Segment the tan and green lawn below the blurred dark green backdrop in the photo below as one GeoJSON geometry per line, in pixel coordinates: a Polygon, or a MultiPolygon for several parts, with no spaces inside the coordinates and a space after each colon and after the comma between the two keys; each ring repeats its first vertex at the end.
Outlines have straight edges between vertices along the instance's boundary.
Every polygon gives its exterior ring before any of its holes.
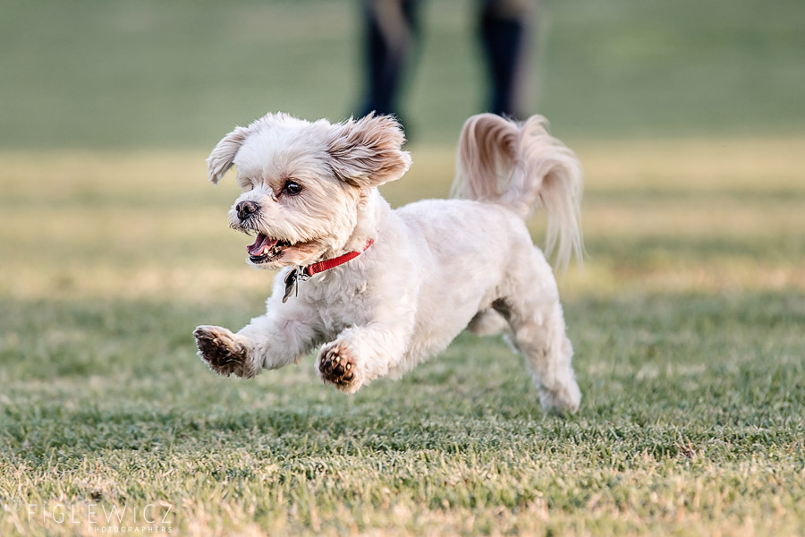
{"type": "MultiPolygon", "coordinates": [[[[97,534],[88,509],[112,507],[140,527],[149,504],[186,535],[800,533],[803,149],[579,148],[568,419],[496,338],[355,396],[311,359],[217,377],[192,328],[239,328],[269,286],[226,229],[233,182],[206,184],[201,152],[6,153],[0,534],[97,534]]],[[[412,150],[394,204],[447,188],[449,153],[412,150]]]]}

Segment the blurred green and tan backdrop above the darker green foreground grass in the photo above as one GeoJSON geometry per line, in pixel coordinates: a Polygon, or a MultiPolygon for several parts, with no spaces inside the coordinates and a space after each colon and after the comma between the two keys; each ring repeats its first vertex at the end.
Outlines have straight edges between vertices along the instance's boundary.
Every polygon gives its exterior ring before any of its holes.
{"type": "MultiPolygon", "coordinates": [[[[362,5],[3,0],[0,291],[263,289],[225,226],[234,182],[206,184],[204,158],[267,111],[359,111],[362,5]]],[[[384,188],[394,205],[447,194],[462,123],[487,106],[479,3],[419,5],[401,97],[414,165],[384,188]]],[[[546,115],[587,175],[588,271],[570,292],[805,279],[805,4],[531,5],[523,112],[546,115]]]]}

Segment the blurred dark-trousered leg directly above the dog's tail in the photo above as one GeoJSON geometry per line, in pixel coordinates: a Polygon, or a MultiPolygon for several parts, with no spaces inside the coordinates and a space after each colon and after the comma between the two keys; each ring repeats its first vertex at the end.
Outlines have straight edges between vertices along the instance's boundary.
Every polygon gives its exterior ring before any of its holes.
{"type": "Polygon", "coordinates": [[[531,14],[536,0],[479,0],[479,33],[487,61],[487,111],[524,117],[522,86],[531,14]]]}

